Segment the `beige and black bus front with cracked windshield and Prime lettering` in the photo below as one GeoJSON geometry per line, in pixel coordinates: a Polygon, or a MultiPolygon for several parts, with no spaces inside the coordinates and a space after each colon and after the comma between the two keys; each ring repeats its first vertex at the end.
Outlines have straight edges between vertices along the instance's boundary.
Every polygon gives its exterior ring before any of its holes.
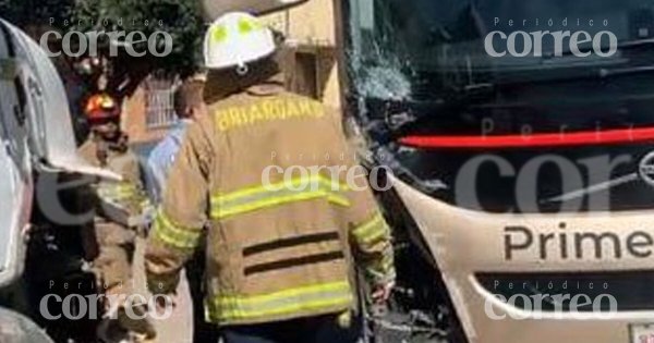
{"type": "Polygon", "coordinates": [[[654,3],[337,8],[349,113],[392,170],[399,281],[379,327],[408,342],[650,342],[654,3]]]}

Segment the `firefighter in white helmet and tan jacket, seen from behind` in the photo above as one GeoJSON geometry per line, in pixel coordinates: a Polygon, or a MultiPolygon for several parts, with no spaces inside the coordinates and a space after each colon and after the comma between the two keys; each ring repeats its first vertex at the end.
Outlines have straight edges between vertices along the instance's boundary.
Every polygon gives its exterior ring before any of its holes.
{"type": "Polygon", "coordinates": [[[187,127],[170,170],[146,248],[148,287],[171,294],[206,242],[205,314],[226,343],[354,342],[353,261],[385,302],[390,231],[367,183],[328,172],[356,167],[340,115],[286,91],[275,53],[272,33],[249,14],[209,27],[208,113],[187,127]]]}

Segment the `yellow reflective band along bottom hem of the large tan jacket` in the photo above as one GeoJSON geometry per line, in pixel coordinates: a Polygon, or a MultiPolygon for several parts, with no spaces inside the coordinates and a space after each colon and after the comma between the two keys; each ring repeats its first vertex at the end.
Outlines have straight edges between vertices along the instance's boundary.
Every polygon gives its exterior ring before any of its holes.
{"type": "Polygon", "coordinates": [[[230,322],[322,309],[347,309],[352,302],[350,283],[340,281],[294,287],[266,295],[219,295],[207,302],[207,309],[211,321],[230,322]]]}

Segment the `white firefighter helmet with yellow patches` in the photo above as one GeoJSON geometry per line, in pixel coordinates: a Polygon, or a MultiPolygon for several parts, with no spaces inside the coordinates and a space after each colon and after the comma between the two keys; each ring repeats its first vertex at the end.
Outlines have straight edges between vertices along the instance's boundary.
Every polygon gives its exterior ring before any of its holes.
{"type": "Polygon", "coordinates": [[[270,56],[275,49],[272,32],[259,20],[247,13],[231,12],[216,20],[205,35],[205,66],[235,66],[240,74],[245,74],[245,63],[270,56]]]}

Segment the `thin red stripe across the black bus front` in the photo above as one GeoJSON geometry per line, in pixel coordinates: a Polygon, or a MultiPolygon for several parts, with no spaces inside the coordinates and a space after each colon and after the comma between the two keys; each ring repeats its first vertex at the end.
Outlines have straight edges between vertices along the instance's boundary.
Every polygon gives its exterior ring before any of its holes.
{"type": "Polygon", "coordinates": [[[400,144],[416,148],[523,148],[590,145],[618,145],[654,142],[654,127],[545,133],[531,135],[407,136],[400,144]]]}

